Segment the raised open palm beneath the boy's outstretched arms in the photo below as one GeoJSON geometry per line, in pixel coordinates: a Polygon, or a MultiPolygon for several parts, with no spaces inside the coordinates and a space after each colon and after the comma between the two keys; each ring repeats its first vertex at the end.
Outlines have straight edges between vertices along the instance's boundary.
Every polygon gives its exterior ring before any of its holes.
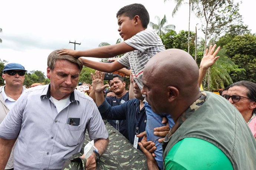
{"type": "Polygon", "coordinates": [[[108,84],[104,85],[104,75],[105,75],[105,73],[101,72],[101,71],[96,71],[95,75],[93,75],[91,73],[92,88],[94,89],[95,92],[100,93],[100,92],[104,91],[104,89],[106,87],[109,86],[108,84]]]}

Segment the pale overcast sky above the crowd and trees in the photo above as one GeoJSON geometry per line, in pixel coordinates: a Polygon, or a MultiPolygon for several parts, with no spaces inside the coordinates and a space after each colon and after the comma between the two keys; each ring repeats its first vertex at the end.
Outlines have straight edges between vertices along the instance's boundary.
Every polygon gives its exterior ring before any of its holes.
{"type": "MultiPolygon", "coordinates": [[[[74,48],[69,41],[81,43],[76,50],[96,48],[102,42],[115,44],[119,36],[116,12],[123,6],[141,3],[150,21],[155,16],[167,16],[167,24],[174,24],[175,31],[188,30],[188,5],[180,8],[176,16],[171,13],[174,1],[164,0],[5,0],[0,6],[0,59],[22,64],[28,71],[45,72],[47,57],[59,48],[74,48]]],[[[256,1],[243,0],[240,13],[244,24],[256,33],[256,1]]],[[[201,23],[191,15],[191,31],[201,23]]],[[[199,35],[202,36],[201,33],[199,35]]],[[[89,58],[99,61],[97,58],[89,58]]]]}

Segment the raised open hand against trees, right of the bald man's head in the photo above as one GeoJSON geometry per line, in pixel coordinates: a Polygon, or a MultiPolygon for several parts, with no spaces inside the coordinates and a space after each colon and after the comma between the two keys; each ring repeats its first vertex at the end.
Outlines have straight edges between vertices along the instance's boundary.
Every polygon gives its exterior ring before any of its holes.
{"type": "Polygon", "coordinates": [[[220,58],[219,56],[216,57],[217,53],[220,50],[220,47],[218,47],[214,52],[215,48],[216,48],[216,44],[211,45],[209,50],[208,48],[206,49],[204,57],[200,62],[200,68],[208,69],[217,61],[218,58],[220,58]]]}

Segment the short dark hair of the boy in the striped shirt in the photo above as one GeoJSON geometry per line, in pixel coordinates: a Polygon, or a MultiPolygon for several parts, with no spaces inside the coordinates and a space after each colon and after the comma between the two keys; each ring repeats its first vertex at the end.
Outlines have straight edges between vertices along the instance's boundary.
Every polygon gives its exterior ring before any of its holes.
{"type": "Polygon", "coordinates": [[[135,16],[139,16],[142,23],[142,27],[144,28],[148,27],[148,23],[150,21],[148,11],[142,4],[134,3],[134,4],[130,4],[122,7],[116,13],[116,18],[121,15],[127,16],[130,19],[134,18],[135,16]]]}

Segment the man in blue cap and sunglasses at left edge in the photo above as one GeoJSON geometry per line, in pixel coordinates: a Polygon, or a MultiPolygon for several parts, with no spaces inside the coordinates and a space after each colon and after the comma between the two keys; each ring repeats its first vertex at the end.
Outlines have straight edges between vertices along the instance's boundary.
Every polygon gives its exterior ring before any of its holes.
{"type": "MultiPolygon", "coordinates": [[[[0,123],[25,91],[26,88],[23,87],[23,82],[26,71],[23,65],[18,63],[6,64],[4,67],[2,77],[5,85],[0,86],[0,123]]],[[[5,169],[13,169],[13,149],[5,169]]]]}

